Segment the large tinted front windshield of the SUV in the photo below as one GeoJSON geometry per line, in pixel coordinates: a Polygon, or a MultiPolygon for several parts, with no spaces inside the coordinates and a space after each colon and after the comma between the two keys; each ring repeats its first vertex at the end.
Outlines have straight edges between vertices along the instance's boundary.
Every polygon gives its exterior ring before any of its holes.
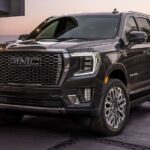
{"type": "Polygon", "coordinates": [[[112,39],[117,35],[119,21],[118,15],[63,17],[52,21],[37,40],[112,39]]]}

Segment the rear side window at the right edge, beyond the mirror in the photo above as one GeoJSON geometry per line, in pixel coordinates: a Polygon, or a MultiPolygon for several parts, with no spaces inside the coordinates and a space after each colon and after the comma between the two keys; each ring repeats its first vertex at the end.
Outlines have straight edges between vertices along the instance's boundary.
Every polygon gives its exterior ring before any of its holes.
{"type": "Polygon", "coordinates": [[[148,35],[148,42],[150,42],[150,24],[145,18],[137,18],[137,23],[141,31],[144,31],[148,35]]]}

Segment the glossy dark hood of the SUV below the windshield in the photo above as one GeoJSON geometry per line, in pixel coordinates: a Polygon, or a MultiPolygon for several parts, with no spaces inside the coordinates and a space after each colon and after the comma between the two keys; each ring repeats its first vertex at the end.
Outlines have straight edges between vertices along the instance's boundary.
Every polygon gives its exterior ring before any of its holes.
{"type": "Polygon", "coordinates": [[[23,41],[13,43],[7,46],[7,49],[14,50],[50,50],[50,49],[67,49],[68,51],[82,50],[82,49],[91,49],[93,47],[113,44],[114,40],[94,40],[94,41],[85,41],[85,40],[67,40],[67,41],[23,41]]]}

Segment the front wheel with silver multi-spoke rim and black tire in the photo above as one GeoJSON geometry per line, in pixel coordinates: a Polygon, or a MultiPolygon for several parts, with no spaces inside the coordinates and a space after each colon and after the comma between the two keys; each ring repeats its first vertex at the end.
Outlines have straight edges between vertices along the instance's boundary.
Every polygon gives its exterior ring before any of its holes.
{"type": "Polygon", "coordinates": [[[110,79],[102,93],[99,115],[92,119],[91,128],[94,132],[106,136],[118,135],[129,118],[130,101],[127,89],[120,80],[110,79]],[[120,94],[120,97],[117,94],[120,94]]]}

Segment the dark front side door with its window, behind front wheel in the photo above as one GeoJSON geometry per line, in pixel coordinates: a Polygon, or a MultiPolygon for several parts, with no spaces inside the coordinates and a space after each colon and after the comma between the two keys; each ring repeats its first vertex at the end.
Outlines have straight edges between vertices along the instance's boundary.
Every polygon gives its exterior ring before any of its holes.
{"type": "MultiPolygon", "coordinates": [[[[130,16],[127,18],[124,27],[124,40],[128,42],[129,33],[131,31],[137,31],[138,26],[135,18],[130,16]]],[[[126,56],[122,63],[127,68],[130,81],[130,89],[133,93],[136,93],[139,89],[147,86],[148,69],[146,69],[148,64],[146,63],[145,47],[144,44],[135,44],[133,46],[128,46],[125,50],[126,56]]]]}

